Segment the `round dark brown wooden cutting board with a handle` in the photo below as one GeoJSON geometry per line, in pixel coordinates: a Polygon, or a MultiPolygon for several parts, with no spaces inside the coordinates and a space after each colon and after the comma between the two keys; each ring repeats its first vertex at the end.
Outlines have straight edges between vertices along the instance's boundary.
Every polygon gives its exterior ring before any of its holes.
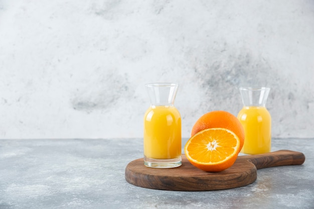
{"type": "Polygon", "coordinates": [[[253,183],[257,169],[283,165],[301,165],[303,153],[279,150],[259,155],[238,156],[235,163],[221,172],[205,172],[193,166],[182,155],[182,165],[177,168],[148,168],[143,158],[131,161],[125,168],[127,182],[144,188],[206,191],[230,189],[253,183]]]}

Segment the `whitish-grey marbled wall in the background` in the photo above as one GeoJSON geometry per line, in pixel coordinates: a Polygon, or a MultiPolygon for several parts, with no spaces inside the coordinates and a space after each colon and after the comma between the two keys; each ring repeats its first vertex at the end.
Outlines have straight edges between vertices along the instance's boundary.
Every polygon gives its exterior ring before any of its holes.
{"type": "Polygon", "coordinates": [[[314,137],[313,1],[0,1],[0,138],[142,137],[147,82],[178,82],[183,137],[271,87],[273,137],[314,137]]]}

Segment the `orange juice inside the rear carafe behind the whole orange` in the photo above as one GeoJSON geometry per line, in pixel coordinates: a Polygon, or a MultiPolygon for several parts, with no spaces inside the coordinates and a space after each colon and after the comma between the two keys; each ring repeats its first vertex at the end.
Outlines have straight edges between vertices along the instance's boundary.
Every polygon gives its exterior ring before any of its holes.
{"type": "Polygon", "coordinates": [[[238,114],[245,140],[241,150],[246,154],[270,152],[271,148],[271,117],[265,107],[243,107],[238,114]]]}

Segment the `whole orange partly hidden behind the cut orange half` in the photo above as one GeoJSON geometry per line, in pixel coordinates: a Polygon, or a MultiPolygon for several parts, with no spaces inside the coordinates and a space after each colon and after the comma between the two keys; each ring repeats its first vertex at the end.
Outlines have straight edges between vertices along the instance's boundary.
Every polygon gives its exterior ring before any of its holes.
{"type": "Polygon", "coordinates": [[[204,129],[224,128],[235,133],[240,139],[240,150],[244,144],[244,129],[240,121],[226,111],[212,111],[204,114],[192,128],[191,137],[204,129]]]}

